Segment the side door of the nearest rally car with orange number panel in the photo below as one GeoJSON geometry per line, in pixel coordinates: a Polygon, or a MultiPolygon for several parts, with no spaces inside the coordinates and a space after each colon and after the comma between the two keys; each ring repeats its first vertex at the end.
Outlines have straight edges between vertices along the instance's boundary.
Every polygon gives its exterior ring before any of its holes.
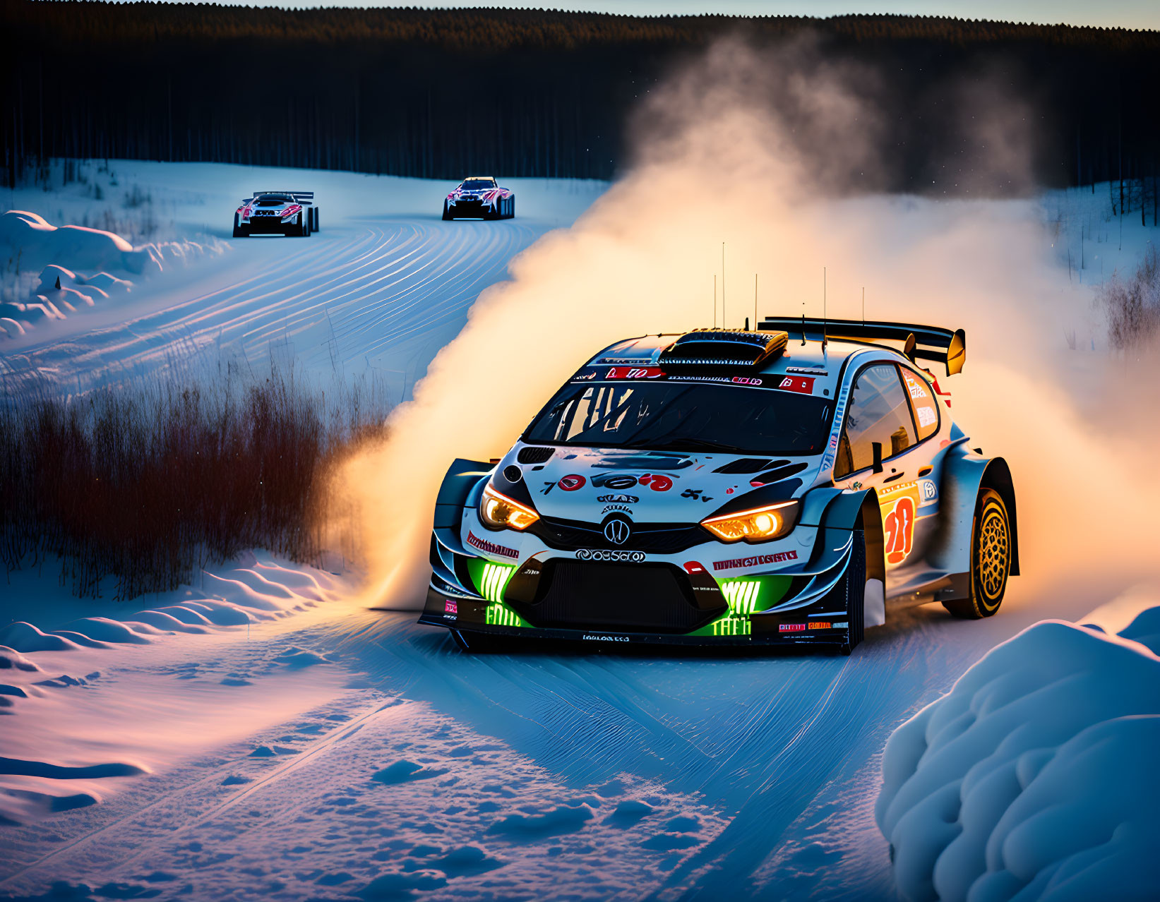
{"type": "MultiPolygon", "coordinates": [[[[931,434],[929,425],[922,434],[931,434]]],[[[873,488],[878,495],[887,597],[913,582],[915,565],[921,568],[923,559],[920,546],[930,538],[918,523],[926,481],[920,473],[929,472],[931,449],[933,443],[921,442],[900,368],[876,363],[860,370],[839,439],[834,481],[846,488],[873,488]]]]}

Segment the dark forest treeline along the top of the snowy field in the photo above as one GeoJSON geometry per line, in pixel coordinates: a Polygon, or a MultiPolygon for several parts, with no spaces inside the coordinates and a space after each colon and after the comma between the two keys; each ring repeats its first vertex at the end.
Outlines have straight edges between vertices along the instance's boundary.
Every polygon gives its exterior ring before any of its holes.
{"type": "Polygon", "coordinates": [[[680,60],[725,35],[773,58],[804,34],[820,59],[876,75],[871,100],[899,160],[879,187],[958,183],[954,173],[931,180],[930,161],[954,166],[955,141],[970,140],[955,132],[956,104],[983,72],[1034,117],[1039,181],[1157,175],[1157,31],[73,0],[0,0],[3,163],[9,180],[46,157],[610,177],[625,162],[635,102],[680,60]]]}

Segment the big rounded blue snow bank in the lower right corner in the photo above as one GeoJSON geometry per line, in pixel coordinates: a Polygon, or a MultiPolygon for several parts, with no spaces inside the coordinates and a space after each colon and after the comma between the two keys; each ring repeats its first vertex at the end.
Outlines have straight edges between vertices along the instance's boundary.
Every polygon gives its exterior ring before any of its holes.
{"type": "Polygon", "coordinates": [[[875,815],[902,897],[1155,897],[1158,640],[1160,608],[1035,624],[894,732],[875,815]]]}

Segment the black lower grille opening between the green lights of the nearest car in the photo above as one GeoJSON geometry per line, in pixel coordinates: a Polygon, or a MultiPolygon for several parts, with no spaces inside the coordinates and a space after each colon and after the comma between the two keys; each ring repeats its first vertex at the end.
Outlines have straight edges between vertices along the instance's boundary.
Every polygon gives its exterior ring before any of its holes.
{"type": "Polygon", "coordinates": [[[697,608],[688,579],[668,563],[549,561],[539,596],[535,604],[508,604],[544,628],[657,633],[688,633],[726,610],[724,602],[697,608]]]}

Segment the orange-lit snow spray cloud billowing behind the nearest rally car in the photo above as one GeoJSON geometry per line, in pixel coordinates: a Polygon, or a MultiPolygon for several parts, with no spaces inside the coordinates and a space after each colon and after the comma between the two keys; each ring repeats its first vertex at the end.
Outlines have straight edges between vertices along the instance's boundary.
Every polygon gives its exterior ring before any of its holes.
{"type": "MultiPolygon", "coordinates": [[[[1155,493],[1110,488],[1131,483],[1133,458],[1086,427],[1067,391],[1076,352],[1063,329],[1092,332],[1089,291],[1052,256],[1031,202],[867,191],[890,141],[865,86],[862,73],[812,59],[809,45],[783,48],[771,64],[726,41],[652,93],[630,172],[571,228],[512,262],[510,281],[479,297],[393,414],[391,437],[340,473],[369,603],[421,605],[450,461],[502,454],[593,352],[645,333],[740,327],[755,307],[821,314],[824,268],[831,317],[860,318],[864,286],[870,318],[965,327],[966,370],[948,387],[972,445],[1012,463],[1024,574],[1145,555],[1143,532],[1125,528],[1122,538],[1108,524],[1147,523],[1155,493]]],[[[1089,357],[1090,378],[1102,378],[1105,361],[1089,357]]]]}

